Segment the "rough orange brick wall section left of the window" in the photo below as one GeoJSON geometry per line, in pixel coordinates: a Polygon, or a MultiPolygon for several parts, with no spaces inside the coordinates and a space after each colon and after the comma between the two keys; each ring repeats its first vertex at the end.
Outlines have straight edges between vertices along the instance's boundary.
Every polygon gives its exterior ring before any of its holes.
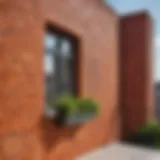
{"type": "Polygon", "coordinates": [[[38,6],[36,1],[0,1],[0,135],[29,130],[42,114],[43,18],[38,6]]]}

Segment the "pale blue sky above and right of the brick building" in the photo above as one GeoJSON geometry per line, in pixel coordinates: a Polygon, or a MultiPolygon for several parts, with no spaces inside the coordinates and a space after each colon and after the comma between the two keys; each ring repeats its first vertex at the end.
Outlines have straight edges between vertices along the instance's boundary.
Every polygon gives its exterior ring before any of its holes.
{"type": "Polygon", "coordinates": [[[160,0],[106,0],[119,14],[147,9],[154,20],[154,78],[160,80],[160,0]]]}

